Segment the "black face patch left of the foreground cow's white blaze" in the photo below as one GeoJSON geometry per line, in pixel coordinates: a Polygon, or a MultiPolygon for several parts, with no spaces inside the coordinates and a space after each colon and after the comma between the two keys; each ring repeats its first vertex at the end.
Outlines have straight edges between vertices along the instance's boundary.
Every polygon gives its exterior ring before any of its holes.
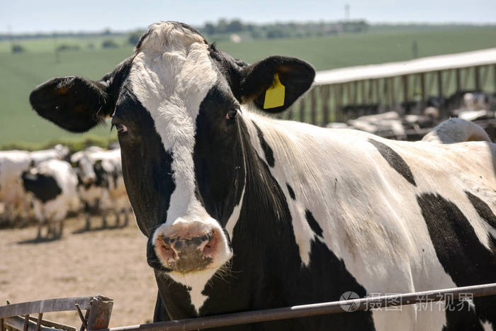
{"type": "Polygon", "coordinates": [[[127,86],[123,87],[113,120],[128,127],[119,133],[123,177],[137,224],[149,236],[165,222],[171,194],[172,155],[164,150],[150,113],[127,86]]]}

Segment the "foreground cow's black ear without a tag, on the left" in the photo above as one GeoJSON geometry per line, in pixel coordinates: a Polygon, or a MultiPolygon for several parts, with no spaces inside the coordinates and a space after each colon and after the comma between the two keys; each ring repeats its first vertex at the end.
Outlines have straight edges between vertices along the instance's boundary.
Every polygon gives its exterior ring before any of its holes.
{"type": "Polygon", "coordinates": [[[43,118],[75,133],[86,132],[113,112],[104,82],[82,77],[50,79],[29,96],[34,110],[43,118]]]}

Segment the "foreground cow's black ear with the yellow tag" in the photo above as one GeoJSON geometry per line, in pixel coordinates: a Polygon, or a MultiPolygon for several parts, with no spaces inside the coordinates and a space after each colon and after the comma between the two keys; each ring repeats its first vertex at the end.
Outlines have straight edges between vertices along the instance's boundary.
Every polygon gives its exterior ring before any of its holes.
{"type": "Polygon", "coordinates": [[[291,106],[310,86],[315,69],[295,57],[271,56],[242,69],[242,103],[278,113],[291,106]]]}

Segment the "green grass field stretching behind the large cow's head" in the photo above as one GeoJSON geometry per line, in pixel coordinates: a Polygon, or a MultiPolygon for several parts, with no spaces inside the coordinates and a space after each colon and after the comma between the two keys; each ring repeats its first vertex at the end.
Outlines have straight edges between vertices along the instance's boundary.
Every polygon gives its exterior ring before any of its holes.
{"type": "MultiPolygon", "coordinates": [[[[10,44],[0,42],[0,146],[18,143],[39,147],[55,140],[82,140],[91,136],[115,137],[109,127],[97,128],[86,135],[73,135],[39,118],[31,111],[28,96],[38,84],[56,76],[84,75],[98,79],[109,72],[133,48],[125,37],[116,38],[122,45],[102,49],[106,38],[23,40],[21,54],[11,54],[10,44]],[[55,61],[55,44],[80,45],[77,51],[59,52],[55,61]],[[87,45],[95,45],[89,49],[87,45]]],[[[449,54],[496,47],[496,28],[453,28],[426,32],[366,33],[308,39],[258,40],[247,43],[218,43],[218,48],[247,62],[257,62],[268,55],[290,55],[312,63],[317,70],[376,64],[412,58],[412,43],[417,40],[419,56],[449,54]]]]}

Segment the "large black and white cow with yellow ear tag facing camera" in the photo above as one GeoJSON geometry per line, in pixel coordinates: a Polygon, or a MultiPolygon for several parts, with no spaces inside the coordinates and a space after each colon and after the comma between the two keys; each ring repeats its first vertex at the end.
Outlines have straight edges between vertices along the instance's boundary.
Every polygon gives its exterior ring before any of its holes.
{"type": "MultiPolygon", "coordinates": [[[[55,78],[33,108],[72,132],[112,117],[159,297],[154,320],[496,281],[496,145],[385,140],[274,120],[315,72],[235,60],[181,23],[150,27],[97,82],[55,78]],[[270,93],[266,90],[271,89],[270,93]]],[[[461,312],[364,311],[229,330],[486,330],[461,312]]]]}

